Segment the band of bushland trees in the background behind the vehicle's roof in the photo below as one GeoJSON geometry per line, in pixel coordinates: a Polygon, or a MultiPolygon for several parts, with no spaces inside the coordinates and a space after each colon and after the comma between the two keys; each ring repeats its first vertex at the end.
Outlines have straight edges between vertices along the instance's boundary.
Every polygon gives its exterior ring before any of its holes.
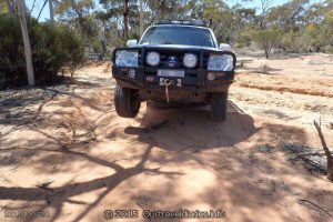
{"type": "MultiPolygon", "coordinates": [[[[143,28],[165,18],[203,19],[210,21],[219,42],[236,47],[256,44],[261,49],[273,46],[285,52],[333,52],[332,0],[290,0],[276,7],[272,7],[273,0],[260,0],[259,8],[246,7],[244,0],[235,4],[222,0],[141,1],[143,28]],[[278,39],[271,34],[276,30],[278,39]]],[[[90,53],[103,56],[128,39],[140,38],[138,0],[57,0],[53,3],[56,22],[77,31],[90,53]]],[[[0,12],[11,13],[13,6],[14,0],[0,0],[0,12]]],[[[268,56],[272,49],[263,50],[268,56]]]]}

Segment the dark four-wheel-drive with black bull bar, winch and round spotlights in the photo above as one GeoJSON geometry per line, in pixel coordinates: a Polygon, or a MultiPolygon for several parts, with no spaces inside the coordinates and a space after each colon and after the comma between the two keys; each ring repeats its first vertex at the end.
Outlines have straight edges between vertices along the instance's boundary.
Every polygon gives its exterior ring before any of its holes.
{"type": "Polygon", "coordinates": [[[228,91],[236,58],[220,44],[203,21],[162,20],[149,27],[141,40],[113,51],[117,80],[115,111],[134,118],[142,101],[210,103],[213,120],[226,117],[228,91]]]}

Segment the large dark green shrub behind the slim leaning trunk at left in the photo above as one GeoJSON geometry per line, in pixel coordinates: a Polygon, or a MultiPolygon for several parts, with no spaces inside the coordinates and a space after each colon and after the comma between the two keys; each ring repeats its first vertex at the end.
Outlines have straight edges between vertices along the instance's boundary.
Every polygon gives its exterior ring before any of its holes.
{"type": "MultiPolygon", "coordinates": [[[[79,36],[65,27],[28,21],[37,84],[60,80],[63,69],[74,70],[83,60],[79,36]]],[[[18,18],[0,16],[0,89],[27,84],[24,47],[18,18]]]]}

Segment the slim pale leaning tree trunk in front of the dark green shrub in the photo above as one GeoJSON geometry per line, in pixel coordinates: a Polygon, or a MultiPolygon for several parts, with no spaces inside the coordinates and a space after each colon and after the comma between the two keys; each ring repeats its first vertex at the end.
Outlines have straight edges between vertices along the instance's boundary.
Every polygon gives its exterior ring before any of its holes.
{"type": "Polygon", "coordinates": [[[18,11],[19,11],[19,16],[20,16],[20,24],[21,24],[21,31],[22,31],[22,37],[23,37],[23,43],[24,43],[28,83],[29,83],[29,85],[34,85],[34,73],[33,73],[33,67],[32,67],[30,39],[29,39],[28,27],[27,27],[27,18],[26,18],[27,11],[26,11],[24,0],[18,0],[18,11]]]}

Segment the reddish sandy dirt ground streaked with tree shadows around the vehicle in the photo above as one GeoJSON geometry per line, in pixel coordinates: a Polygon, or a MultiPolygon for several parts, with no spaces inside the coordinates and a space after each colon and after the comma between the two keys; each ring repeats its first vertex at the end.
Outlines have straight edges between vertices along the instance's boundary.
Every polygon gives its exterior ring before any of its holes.
{"type": "Polygon", "coordinates": [[[224,221],[333,220],[332,183],[285,152],[286,145],[320,148],[311,125],[320,115],[332,147],[330,75],[306,81],[242,72],[221,124],[208,108],[151,103],[135,119],[121,119],[109,69],[83,68],[68,85],[1,92],[0,221],[22,221],[4,218],[16,209],[47,210],[40,221],[61,222],[103,221],[107,209],[221,209],[224,221]],[[302,90],[279,90],[284,80],[302,90]],[[307,90],[317,94],[302,93],[307,90]]]}

